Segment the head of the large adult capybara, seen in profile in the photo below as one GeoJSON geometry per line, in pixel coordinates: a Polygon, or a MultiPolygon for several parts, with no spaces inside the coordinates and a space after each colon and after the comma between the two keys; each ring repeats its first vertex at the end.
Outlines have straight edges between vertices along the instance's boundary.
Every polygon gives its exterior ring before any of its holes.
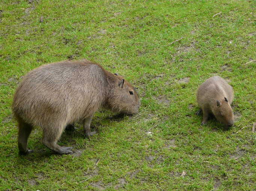
{"type": "Polygon", "coordinates": [[[117,113],[138,113],[141,100],[135,88],[117,73],[113,83],[108,100],[110,109],[117,113]]]}

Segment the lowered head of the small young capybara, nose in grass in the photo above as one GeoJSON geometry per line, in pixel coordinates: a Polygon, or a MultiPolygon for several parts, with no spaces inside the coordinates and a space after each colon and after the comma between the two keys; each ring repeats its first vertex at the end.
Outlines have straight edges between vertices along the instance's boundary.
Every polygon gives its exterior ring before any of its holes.
{"type": "Polygon", "coordinates": [[[217,120],[224,123],[226,128],[229,128],[234,125],[234,114],[233,110],[228,102],[228,99],[225,97],[223,100],[216,101],[217,108],[214,111],[214,116],[217,120]]]}

